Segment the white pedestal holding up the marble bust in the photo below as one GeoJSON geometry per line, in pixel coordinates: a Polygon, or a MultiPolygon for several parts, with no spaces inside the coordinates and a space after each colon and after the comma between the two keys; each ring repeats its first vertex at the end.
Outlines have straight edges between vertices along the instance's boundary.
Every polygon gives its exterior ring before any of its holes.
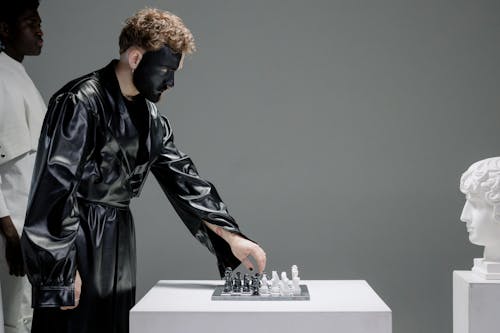
{"type": "Polygon", "coordinates": [[[500,332],[500,280],[453,272],[453,333],[500,332]]]}

